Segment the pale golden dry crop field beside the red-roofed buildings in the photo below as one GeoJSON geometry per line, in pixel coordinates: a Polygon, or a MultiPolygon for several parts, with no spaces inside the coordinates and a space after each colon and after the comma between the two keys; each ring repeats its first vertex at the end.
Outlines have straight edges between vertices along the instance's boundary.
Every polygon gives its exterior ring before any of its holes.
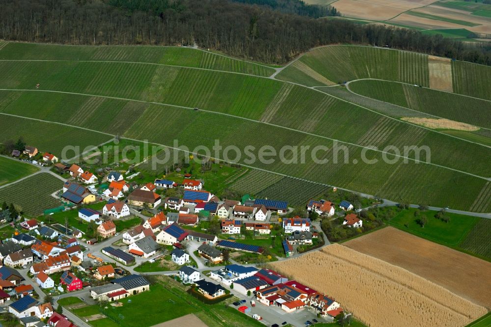
{"type": "Polygon", "coordinates": [[[343,245],[271,267],[335,298],[370,326],[461,327],[487,312],[414,273],[343,245]]]}

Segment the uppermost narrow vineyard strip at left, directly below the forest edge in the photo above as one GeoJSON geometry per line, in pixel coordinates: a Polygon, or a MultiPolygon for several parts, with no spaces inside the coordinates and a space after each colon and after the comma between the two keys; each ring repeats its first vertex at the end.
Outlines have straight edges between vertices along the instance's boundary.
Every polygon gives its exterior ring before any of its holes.
{"type": "Polygon", "coordinates": [[[186,47],[161,46],[68,46],[9,42],[0,45],[0,60],[95,60],[159,63],[173,66],[223,70],[271,76],[274,69],[225,55],[186,47]]]}

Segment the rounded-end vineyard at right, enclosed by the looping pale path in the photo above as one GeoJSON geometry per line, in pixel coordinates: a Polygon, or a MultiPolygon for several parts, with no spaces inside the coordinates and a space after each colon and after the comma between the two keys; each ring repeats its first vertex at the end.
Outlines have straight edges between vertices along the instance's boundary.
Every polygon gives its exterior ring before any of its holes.
{"type": "Polygon", "coordinates": [[[385,81],[356,81],[350,83],[350,89],[366,97],[437,117],[491,128],[491,102],[489,101],[385,81]]]}

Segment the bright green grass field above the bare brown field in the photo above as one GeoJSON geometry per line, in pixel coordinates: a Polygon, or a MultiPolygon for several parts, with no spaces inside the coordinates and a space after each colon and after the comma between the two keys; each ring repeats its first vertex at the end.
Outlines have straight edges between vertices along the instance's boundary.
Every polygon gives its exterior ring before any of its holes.
{"type": "Polygon", "coordinates": [[[447,213],[449,222],[443,222],[434,216],[436,211],[421,211],[420,216],[426,216],[427,222],[421,227],[414,217],[417,209],[402,210],[397,216],[388,221],[389,225],[397,227],[424,239],[443,245],[458,246],[479,221],[477,217],[447,213]]]}

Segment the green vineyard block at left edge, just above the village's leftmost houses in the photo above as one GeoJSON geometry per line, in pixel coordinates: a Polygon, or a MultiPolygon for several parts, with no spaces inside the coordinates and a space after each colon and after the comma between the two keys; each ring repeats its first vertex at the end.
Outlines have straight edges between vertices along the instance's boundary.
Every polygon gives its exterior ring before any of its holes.
{"type": "MultiPolygon", "coordinates": [[[[1,114],[0,130],[0,142],[8,139],[16,141],[22,136],[28,145],[37,147],[40,152],[51,152],[58,158],[61,158],[62,150],[67,145],[80,147],[83,152],[85,147],[93,147],[112,138],[79,128],[1,114]]],[[[66,155],[68,158],[75,156],[73,151],[66,155]]]]}

